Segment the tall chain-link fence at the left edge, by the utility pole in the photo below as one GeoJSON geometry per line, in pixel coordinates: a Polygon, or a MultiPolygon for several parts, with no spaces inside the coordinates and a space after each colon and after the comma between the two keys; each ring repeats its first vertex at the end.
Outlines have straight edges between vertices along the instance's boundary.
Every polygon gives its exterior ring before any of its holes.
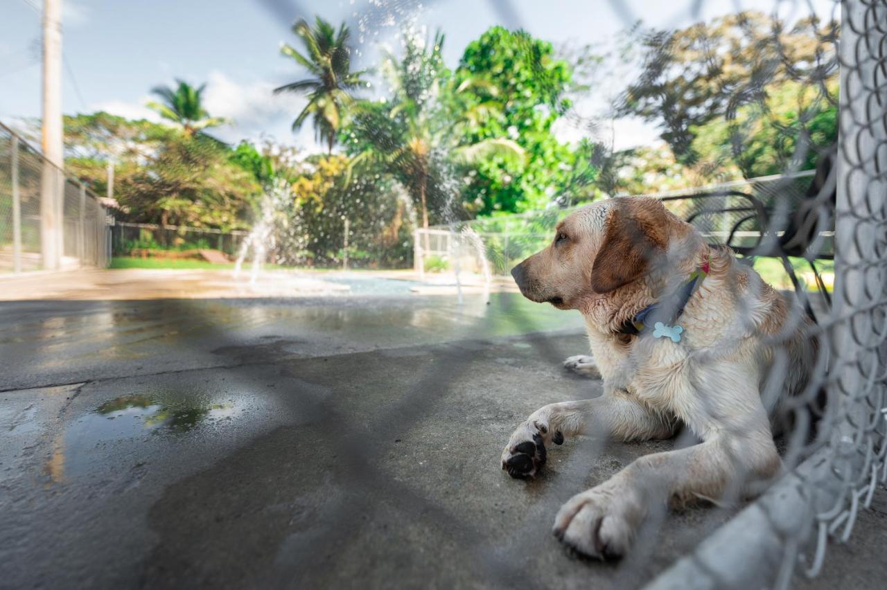
{"type": "Polygon", "coordinates": [[[54,252],[60,268],[106,267],[110,238],[106,208],[98,197],[0,124],[0,273],[45,268],[44,190],[56,196],[59,209],[51,213],[62,221],[53,229],[56,237],[60,234],[59,252],[54,252]]]}

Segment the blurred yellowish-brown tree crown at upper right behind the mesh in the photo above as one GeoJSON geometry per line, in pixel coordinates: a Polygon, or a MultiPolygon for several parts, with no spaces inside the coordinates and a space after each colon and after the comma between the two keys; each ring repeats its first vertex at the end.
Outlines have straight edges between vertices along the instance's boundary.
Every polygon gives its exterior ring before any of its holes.
{"type": "Polygon", "coordinates": [[[618,114],[657,122],[679,161],[692,165],[694,129],[742,105],[763,104],[784,82],[824,87],[837,73],[837,25],[817,19],[787,27],[760,12],[740,12],[709,24],[644,36],[640,76],[625,91],[618,114]]]}

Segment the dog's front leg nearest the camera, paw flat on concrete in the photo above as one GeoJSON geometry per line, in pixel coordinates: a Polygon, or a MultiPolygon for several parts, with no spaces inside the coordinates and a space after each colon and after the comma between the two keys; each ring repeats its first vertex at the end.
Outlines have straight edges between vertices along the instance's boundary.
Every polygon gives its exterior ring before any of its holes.
{"type": "Polygon", "coordinates": [[[554,534],[585,555],[624,555],[650,507],[739,496],[775,476],[781,459],[765,409],[757,392],[737,390],[724,396],[729,408],[689,416],[687,425],[697,433],[707,426],[701,444],[640,457],[603,484],[573,496],[558,512],[554,534]]]}

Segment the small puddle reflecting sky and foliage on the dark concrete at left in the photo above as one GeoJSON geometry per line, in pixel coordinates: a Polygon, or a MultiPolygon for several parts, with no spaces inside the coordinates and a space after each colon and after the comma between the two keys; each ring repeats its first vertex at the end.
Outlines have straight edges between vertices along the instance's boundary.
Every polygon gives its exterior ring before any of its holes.
{"type": "Polygon", "coordinates": [[[52,479],[73,477],[108,462],[142,460],[146,445],[168,444],[158,436],[176,436],[224,424],[245,409],[234,399],[219,403],[199,393],[158,392],[123,395],[102,403],[68,426],[64,444],[51,457],[52,479]],[[120,443],[128,443],[119,446],[120,443]],[[111,447],[114,448],[111,448],[111,447]]]}

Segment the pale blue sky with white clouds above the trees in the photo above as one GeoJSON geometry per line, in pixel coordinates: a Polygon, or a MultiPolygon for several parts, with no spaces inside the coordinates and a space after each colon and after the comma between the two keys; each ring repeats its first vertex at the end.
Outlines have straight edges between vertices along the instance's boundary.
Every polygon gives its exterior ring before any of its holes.
{"type": "MultiPolygon", "coordinates": [[[[778,11],[792,21],[811,11],[830,17],[833,0],[61,0],[63,4],[63,110],[105,110],[158,120],[145,107],[150,91],[182,78],[206,82],[209,113],[233,121],[213,130],[231,143],[273,138],[314,147],[310,125],[290,125],[304,105],[301,97],[273,95],[275,87],[304,77],[279,53],[280,43],[297,39],[290,31],[299,18],[320,15],[347,21],[361,67],[379,60],[379,47],[397,45],[404,25],[440,27],[447,35],[444,58],[454,67],[461,51],[488,27],[522,27],[556,46],[607,45],[640,19],[648,27],[685,27],[729,12],[778,11]]],[[[40,116],[42,0],[0,0],[0,121],[15,126],[40,116]]],[[[599,110],[607,93],[627,80],[579,97],[579,110],[599,110]]],[[[618,120],[608,136],[616,149],[656,141],[655,125],[618,120]]],[[[563,141],[584,132],[561,121],[563,141]]]]}

